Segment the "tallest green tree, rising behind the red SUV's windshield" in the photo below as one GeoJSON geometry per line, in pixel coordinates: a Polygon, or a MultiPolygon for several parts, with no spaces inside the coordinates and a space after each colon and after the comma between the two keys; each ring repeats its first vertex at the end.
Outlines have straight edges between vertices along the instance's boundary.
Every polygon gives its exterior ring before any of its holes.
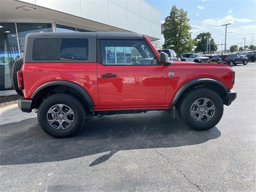
{"type": "Polygon", "coordinates": [[[194,40],[191,38],[190,29],[187,17],[188,12],[183,9],[178,9],[175,5],[165,18],[164,27],[164,45],[165,49],[172,49],[177,54],[190,52],[194,46],[194,40]]]}

